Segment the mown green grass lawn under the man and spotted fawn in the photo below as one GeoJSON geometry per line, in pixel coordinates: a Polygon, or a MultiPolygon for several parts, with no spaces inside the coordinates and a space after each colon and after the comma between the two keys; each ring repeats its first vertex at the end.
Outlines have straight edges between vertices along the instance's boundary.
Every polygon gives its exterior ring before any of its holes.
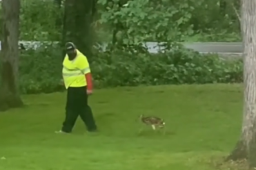
{"type": "MultiPolygon", "coordinates": [[[[23,96],[25,108],[0,114],[0,170],[213,170],[239,138],[241,85],[95,90],[100,132],[55,134],[64,93],[23,96]],[[165,119],[166,133],[139,130],[140,114],[165,119]]],[[[226,170],[226,169],[224,169],[226,170]]]]}

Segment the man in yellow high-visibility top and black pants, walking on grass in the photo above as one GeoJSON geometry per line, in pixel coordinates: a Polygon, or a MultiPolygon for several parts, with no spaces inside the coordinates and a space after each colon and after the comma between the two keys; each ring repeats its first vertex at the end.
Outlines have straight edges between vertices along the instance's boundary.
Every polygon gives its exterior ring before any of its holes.
{"type": "Polygon", "coordinates": [[[63,80],[67,93],[66,117],[63,127],[56,133],[71,133],[77,117],[80,116],[88,132],[95,132],[97,126],[88,96],[92,94],[92,75],[86,56],[72,42],[65,45],[66,56],[63,61],[63,80]]]}

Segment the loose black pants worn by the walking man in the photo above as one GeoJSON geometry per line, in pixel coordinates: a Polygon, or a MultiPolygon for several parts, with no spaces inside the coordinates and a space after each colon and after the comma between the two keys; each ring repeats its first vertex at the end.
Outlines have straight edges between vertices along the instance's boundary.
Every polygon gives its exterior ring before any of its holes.
{"type": "Polygon", "coordinates": [[[62,131],[66,133],[72,132],[78,116],[81,117],[88,131],[97,129],[92,109],[88,105],[86,87],[69,87],[66,99],[66,117],[62,131]]]}

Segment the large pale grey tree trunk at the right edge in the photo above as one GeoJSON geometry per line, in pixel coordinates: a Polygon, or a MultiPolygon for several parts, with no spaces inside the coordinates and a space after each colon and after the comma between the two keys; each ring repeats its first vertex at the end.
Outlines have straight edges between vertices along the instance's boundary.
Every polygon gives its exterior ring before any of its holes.
{"type": "Polygon", "coordinates": [[[256,167],[256,1],[242,0],[242,38],[244,43],[244,110],[241,140],[231,160],[246,159],[256,167]]]}

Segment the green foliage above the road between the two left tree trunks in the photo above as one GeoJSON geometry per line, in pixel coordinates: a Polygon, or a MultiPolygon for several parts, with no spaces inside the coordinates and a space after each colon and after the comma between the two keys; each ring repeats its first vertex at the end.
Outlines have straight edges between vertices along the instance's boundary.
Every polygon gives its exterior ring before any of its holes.
{"type": "Polygon", "coordinates": [[[21,40],[61,40],[62,17],[54,1],[21,1],[21,40]]]}

